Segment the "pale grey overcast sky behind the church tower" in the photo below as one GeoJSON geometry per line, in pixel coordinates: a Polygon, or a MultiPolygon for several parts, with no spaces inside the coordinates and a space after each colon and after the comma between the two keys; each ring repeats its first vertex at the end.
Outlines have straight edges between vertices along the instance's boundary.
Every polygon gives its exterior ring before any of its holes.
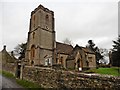
{"type": "Polygon", "coordinates": [[[92,39],[99,48],[112,48],[118,36],[118,1],[0,0],[0,50],[26,42],[31,11],[40,4],[54,11],[57,41],[69,38],[85,46],[92,39]]]}

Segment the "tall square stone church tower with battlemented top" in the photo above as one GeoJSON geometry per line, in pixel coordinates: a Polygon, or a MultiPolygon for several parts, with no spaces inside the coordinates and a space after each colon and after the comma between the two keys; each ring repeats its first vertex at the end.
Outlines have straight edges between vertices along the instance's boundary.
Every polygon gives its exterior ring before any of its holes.
{"type": "Polygon", "coordinates": [[[31,12],[25,60],[29,65],[52,65],[54,50],[54,12],[39,5],[31,12]]]}

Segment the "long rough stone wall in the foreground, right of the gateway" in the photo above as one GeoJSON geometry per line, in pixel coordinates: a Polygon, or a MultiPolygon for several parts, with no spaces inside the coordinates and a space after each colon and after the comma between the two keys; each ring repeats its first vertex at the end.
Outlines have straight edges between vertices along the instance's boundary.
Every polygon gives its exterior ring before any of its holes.
{"type": "Polygon", "coordinates": [[[23,79],[44,88],[120,88],[120,77],[88,75],[51,68],[25,66],[23,79]]]}

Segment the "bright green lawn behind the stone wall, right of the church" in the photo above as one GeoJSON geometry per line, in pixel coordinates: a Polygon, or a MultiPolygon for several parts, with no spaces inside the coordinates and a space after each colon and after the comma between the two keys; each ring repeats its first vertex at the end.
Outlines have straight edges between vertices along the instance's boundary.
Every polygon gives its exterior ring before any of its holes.
{"type": "Polygon", "coordinates": [[[120,68],[118,72],[118,67],[111,67],[111,68],[98,68],[85,71],[86,73],[98,73],[98,74],[106,74],[106,75],[113,75],[113,76],[120,76],[120,68]]]}

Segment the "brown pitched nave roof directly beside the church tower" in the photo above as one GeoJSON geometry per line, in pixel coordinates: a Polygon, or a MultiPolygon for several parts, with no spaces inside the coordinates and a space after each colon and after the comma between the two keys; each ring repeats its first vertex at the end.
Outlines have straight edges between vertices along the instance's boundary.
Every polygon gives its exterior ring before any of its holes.
{"type": "Polygon", "coordinates": [[[60,54],[70,54],[73,50],[72,45],[56,42],[56,52],[60,54]]]}

